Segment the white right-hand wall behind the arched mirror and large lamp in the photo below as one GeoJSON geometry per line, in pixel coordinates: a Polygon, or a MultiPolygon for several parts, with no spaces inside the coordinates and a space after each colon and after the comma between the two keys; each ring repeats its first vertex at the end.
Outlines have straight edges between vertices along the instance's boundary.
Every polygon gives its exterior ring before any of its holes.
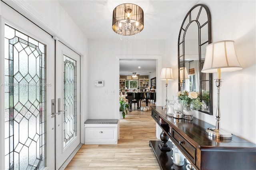
{"type": "MultiPolygon", "coordinates": [[[[212,17],[212,42],[234,40],[238,60],[243,67],[240,71],[222,73],[220,90],[221,128],[256,143],[256,4],[255,1],[199,1],[206,4],[212,17]]],[[[184,17],[187,11],[184,11],[184,17]]],[[[180,26],[182,21],[180,21],[180,26]]],[[[166,44],[174,74],[178,77],[177,42],[180,26],[174,40],[166,44]]],[[[213,74],[216,78],[216,74],[213,74]]],[[[178,91],[178,79],[170,91],[178,91]],[[175,90],[174,90],[175,89],[175,90]]],[[[213,116],[197,112],[195,117],[215,126],[217,90],[213,83],[213,116]]],[[[169,96],[171,94],[168,94],[169,96]]]]}

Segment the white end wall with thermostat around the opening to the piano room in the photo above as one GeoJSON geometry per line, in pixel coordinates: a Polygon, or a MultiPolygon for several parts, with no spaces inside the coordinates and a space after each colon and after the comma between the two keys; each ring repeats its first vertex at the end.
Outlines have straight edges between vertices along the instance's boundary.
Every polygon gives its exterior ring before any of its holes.
{"type": "MultiPolygon", "coordinates": [[[[162,58],[165,54],[163,40],[89,40],[88,118],[117,119],[119,114],[119,60],[122,58],[162,58]],[[104,80],[104,87],[94,87],[94,80],[104,80]],[[104,90],[115,90],[115,95],[104,95],[104,90]]],[[[161,69],[158,68],[157,69],[161,69]]],[[[158,71],[159,72],[159,71],[158,71]]],[[[160,74],[160,73],[159,73],[160,74]]],[[[160,76],[160,75],[159,75],[160,76]]],[[[159,77],[156,76],[156,77],[159,77]]],[[[160,83],[157,80],[157,84],[160,83]]],[[[161,95],[161,94],[160,94],[161,95]]],[[[159,95],[159,96],[160,96],[159,95]]]]}

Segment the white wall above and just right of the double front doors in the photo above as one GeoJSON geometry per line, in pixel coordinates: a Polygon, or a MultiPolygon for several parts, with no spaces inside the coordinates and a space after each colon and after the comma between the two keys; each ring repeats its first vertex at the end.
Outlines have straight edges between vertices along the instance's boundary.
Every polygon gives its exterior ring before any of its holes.
{"type": "Polygon", "coordinates": [[[21,14],[81,55],[81,142],[84,142],[84,121],[87,119],[87,55],[88,41],[58,1],[5,1],[21,14]]]}

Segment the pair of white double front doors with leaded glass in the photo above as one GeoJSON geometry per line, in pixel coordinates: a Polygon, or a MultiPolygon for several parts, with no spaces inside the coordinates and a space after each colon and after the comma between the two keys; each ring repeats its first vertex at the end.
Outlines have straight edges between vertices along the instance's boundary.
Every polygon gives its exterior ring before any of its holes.
{"type": "Polygon", "coordinates": [[[0,3],[0,169],[59,169],[80,143],[80,57],[0,3]]]}

